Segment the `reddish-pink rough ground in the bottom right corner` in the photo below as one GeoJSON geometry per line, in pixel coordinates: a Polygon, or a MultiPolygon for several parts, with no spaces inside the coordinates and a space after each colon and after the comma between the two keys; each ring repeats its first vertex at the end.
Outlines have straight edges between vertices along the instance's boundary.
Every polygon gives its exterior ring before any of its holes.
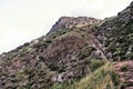
{"type": "Polygon", "coordinates": [[[115,70],[120,76],[120,80],[124,83],[123,88],[133,89],[133,61],[117,62],[115,70]]]}

